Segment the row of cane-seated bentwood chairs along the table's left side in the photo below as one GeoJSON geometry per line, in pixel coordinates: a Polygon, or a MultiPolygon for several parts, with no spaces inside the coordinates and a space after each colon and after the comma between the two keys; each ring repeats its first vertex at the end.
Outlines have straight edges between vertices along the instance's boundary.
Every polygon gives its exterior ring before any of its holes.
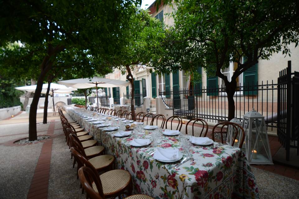
{"type": "MultiPolygon", "coordinates": [[[[87,192],[87,198],[103,199],[108,197],[121,197],[121,194],[131,195],[131,174],[122,169],[113,169],[115,157],[105,155],[105,148],[97,146],[88,132],[85,132],[70,116],[58,110],[66,142],[71,150],[71,158],[77,162],[77,177],[80,180],[82,193],[87,192]],[[86,143],[88,142],[88,143],[86,143]],[[102,174],[99,175],[98,172],[102,174]]],[[[152,199],[147,195],[138,194],[126,199],[152,199]]]]}

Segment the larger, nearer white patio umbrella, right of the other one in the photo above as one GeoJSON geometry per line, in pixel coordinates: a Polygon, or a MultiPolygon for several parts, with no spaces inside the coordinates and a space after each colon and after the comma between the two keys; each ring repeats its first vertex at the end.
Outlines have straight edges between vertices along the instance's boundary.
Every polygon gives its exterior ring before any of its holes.
{"type": "MultiPolygon", "coordinates": [[[[108,87],[121,87],[121,86],[129,86],[130,82],[128,81],[121,81],[121,80],[113,80],[113,79],[106,79],[101,77],[93,77],[89,78],[81,78],[81,79],[73,79],[73,80],[64,80],[58,81],[59,84],[63,84],[65,86],[71,86],[73,88],[92,88],[100,86],[104,88],[108,87]]],[[[99,99],[97,96],[97,108],[99,108],[99,99]]]]}

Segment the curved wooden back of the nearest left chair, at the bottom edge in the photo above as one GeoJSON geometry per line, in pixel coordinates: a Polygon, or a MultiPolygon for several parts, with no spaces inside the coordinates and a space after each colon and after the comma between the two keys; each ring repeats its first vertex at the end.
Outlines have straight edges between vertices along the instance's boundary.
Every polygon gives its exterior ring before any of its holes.
{"type": "Polygon", "coordinates": [[[94,171],[89,167],[83,166],[78,170],[78,176],[80,183],[82,184],[83,189],[86,191],[88,197],[90,197],[91,199],[105,198],[101,179],[97,171],[94,171]],[[95,183],[98,193],[94,191],[93,183],[95,183]]]}

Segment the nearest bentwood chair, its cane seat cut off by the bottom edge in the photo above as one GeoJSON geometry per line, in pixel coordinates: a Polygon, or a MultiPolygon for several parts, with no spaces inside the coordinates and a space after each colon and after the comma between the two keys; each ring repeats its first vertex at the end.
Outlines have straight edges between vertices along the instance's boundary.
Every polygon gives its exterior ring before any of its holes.
{"type": "MultiPolygon", "coordinates": [[[[81,167],[78,170],[80,182],[91,199],[105,199],[101,177],[89,167],[81,167]]],[[[126,197],[125,199],[153,199],[150,196],[138,194],[126,197]]]]}

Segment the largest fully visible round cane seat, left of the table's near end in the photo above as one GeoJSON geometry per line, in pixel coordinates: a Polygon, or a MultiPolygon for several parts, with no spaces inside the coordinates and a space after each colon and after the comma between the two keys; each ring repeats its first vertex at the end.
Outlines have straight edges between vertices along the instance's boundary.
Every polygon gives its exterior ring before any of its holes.
{"type": "MultiPolygon", "coordinates": [[[[125,170],[116,169],[103,173],[100,175],[100,179],[102,182],[103,193],[105,197],[109,197],[110,194],[125,189],[130,184],[131,175],[125,170]]],[[[93,189],[98,193],[95,183],[93,183],[93,189]]]]}

